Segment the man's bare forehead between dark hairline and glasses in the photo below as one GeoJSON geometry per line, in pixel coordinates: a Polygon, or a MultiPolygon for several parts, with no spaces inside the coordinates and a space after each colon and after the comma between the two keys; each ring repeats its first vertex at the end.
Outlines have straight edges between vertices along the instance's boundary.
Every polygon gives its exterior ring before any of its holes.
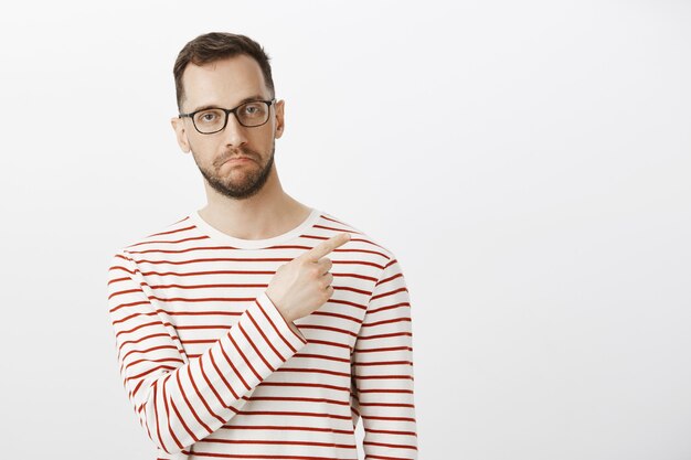
{"type": "Polygon", "coordinates": [[[201,66],[190,63],[182,73],[182,84],[188,109],[205,105],[234,107],[247,96],[269,96],[259,64],[245,54],[201,66]]]}

